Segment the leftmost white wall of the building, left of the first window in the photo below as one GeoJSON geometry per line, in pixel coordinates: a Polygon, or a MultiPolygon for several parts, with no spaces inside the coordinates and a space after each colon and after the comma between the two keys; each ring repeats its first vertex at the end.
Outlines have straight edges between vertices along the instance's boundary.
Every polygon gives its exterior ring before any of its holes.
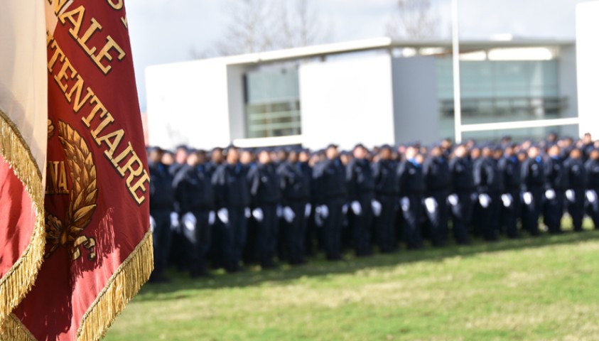
{"type": "Polygon", "coordinates": [[[151,146],[227,146],[231,141],[227,65],[203,60],[146,69],[151,146]]]}

